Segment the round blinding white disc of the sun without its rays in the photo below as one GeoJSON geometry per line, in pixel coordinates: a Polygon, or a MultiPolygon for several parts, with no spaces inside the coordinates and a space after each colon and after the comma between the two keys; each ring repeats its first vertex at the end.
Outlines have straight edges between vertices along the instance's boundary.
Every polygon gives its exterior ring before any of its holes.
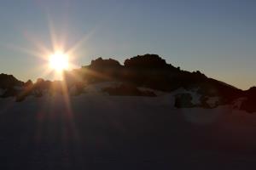
{"type": "Polygon", "coordinates": [[[49,67],[58,72],[67,70],[69,66],[68,58],[68,54],[56,51],[54,54],[49,55],[49,67]]]}

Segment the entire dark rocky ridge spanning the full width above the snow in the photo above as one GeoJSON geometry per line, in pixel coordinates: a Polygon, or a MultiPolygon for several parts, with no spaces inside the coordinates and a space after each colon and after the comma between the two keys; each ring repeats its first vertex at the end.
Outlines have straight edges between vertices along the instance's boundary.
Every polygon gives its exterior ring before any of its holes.
{"type": "MultiPolygon", "coordinates": [[[[242,91],[227,83],[212,79],[201,71],[182,71],[179,67],[167,64],[157,54],[144,54],[125,59],[124,65],[120,65],[115,59],[98,58],[92,60],[90,65],[80,69],[65,72],[67,88],[75,88],[73,94],[83,93],[84,86],[90,83],[118,81],[123,84],[116,88],[104,88],[103,91],[110,95],[137,95],[155,96],[149,91],[141,91],[138,87],[152,88],[164,92],[172,92],[177,88],[195,90],[201,94],[201,105],[190,105],[189,96],[176,96],[176,106],[180,107],[204,107],[211,108],[206,100],[210,97],[218,97],[217,105],[230,105],[239,98],[242,101],[240,109],[247,112],[256,111],[256,88],[242,91]]],[[[0,97],[16,97],[16,101],[26,99],[28,95],[41,97],[47,91],[50,95],[61,94],[63,82],[45,81],[38,78],[37,82],[31,80],[21,82],[12,75],[0,74],[0,88],[4,91],[0,97]]]]}

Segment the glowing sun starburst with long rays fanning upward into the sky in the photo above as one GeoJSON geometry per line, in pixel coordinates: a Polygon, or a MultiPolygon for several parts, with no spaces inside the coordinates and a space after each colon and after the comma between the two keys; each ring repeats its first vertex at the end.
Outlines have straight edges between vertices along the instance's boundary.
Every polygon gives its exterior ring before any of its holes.
{"type": "MultiPolygon", "coordinates": [[[[95,32],[100,28],[99,25],[95,26],[88,33],[84,34],[78,41],[74,42],[73,45],[69,44],[67,48],[67,30],[62,27],[61,31],[56,30],[55,22],[52,20],[50,15],[47,13],[47,24],[49,28],[49,41],[50,45],[45,46],[44,42],[40,42],[38,37],[32,32],[25,32],[24,36],[29,42],[32,42],[32,46],[34,49],[17,47],[15,45],[9,45],[9,48],[20,51],[25,54],[29,54],[34,57],[38,57],[39,59],[44,60],[44,64],[41,66],[36,66],[35,69],[41,69],[42,78],[51,77],[54,79],[62,80],[63,71],[64,70],[72,70],[74,68],[79,68],[79,65],[75,65],[74,62],[78,59],[79,56],[79,48],[84,46],[86,42],[92,37],[95,32]],[[55,54],[58,54],[59,57],[53,57],[55,54]],[[60,54],[63,55],[60,57],[60,54]],[[64,57],[67,55],[67,57],[64,57]],[[63,59],[64,58],[64,59],[63,59]],[[65,59],[67,58],[67,59],[65,59]],[[53,76],[53,77],[52,77],[53,76]]],[[[86,53],[86,50],[83,51],[83,55],[86,53]]]]}

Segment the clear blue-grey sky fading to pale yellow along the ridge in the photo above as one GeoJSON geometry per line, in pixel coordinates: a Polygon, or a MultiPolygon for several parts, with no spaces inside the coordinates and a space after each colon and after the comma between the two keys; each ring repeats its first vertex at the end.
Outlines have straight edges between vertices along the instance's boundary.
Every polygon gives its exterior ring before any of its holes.
{"type": "Polygon", "coordinates": [[[159,54],[247,89],[256,85],[255,8],[253,0],[1,0],[0,72],[51,79],[38,54],[55,42],[73,49],[77,67],[159,54]]]}

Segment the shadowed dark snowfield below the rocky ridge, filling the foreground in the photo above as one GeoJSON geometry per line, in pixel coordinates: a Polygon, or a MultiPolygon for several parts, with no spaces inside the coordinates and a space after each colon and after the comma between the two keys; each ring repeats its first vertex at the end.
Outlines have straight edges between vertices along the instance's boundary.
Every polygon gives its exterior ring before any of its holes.
{"type": "Polygon", "coordinates": [[[174,94],[108,96],[102,86],[0,99],[0,169],[256,168],[256,114],[176,109],[174,94]]]}

